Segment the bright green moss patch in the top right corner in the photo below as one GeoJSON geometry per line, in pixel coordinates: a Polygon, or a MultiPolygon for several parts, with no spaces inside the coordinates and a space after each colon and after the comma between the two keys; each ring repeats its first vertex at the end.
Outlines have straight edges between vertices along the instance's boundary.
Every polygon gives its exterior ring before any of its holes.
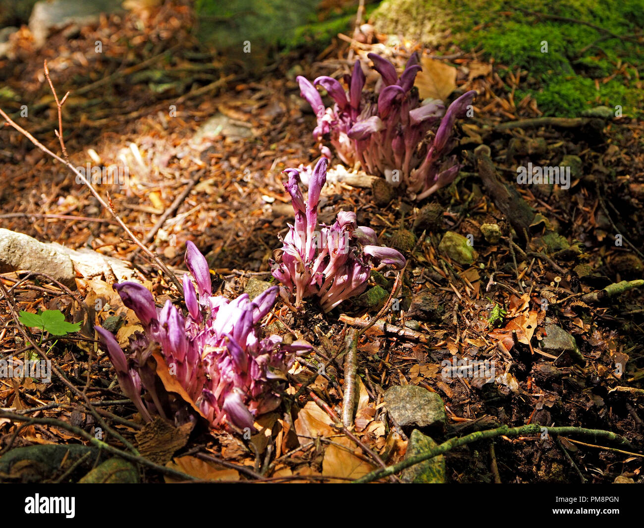
{"type": "Polygon", "coordinates": [[[579,115],[597,104],[619,104],[625,115],[643,112],[636,83],[644,55],[638,44],[620,37],[644,26],[644,0],[388,0],[374,20],[381,31],[428,45],[448,43],[451,30],[460,48],[483,50],[497,64],[526,70],[515,101],[532,95],[546,115],[579,115]],[[575,21],[538,19],[520,8],[584,21],[619,37],[575,21]],[[626,71],[600,81],[598,89],[594,80],[616,73],[620,63],[626,71]]]}

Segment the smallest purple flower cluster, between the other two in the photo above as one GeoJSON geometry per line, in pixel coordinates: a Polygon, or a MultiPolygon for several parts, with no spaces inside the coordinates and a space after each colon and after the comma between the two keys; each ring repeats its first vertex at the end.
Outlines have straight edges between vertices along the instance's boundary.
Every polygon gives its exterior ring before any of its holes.
{"type": "Polygon", "coordinates": [[[405,264],[401,253],[377,245],[372,228],[357,226],[355,213],[340,211],[332,226],[318,226],[317,204],[327,181],[327,165],[326,157],[317,162],[306,202],[299,189],[299,171],[284,171],[289,176],[284,187],[291,197],[295,225],[289,224],[271,269],[273,277],[294,294],[296,306],[305,297],[317,296],[325,312],[363,293],[375,266],[390,264],[399,269],[405,264]]]}

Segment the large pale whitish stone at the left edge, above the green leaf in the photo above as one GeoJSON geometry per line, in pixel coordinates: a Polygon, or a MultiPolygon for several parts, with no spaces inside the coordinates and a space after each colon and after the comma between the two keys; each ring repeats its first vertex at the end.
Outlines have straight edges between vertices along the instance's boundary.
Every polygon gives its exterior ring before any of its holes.
{"type": "Polygon", "coordinates": [[[23,233],[0,229],[0,272],[27,269],[46,273],[76,289],[71,259],[62,251],[23,233]]]}

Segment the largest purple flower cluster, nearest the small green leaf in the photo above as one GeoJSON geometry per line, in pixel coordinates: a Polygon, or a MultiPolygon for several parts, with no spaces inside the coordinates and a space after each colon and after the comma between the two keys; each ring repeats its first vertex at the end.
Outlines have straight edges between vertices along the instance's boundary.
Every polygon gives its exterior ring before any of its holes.
{"type": "Polygon", "coordinates": [[[260,339],[258,324],[272,308],[278,286],[251,300],[247,294],[229,301],[213,296],[208,264],[192,242],[186,242],[185,263],[197,289],[184,275],[187,316],[170,302],[155,306],[152,294],[136,282],[115,284],[123,304],[133,309],[144,327],[130,337],[126,355],[114,336],[96,329],[117,371],[118,384],[137,406],[144,420],[151,415],[189,419],[187,406],[169,399],[156,374],[151,356],[160,351],[169,372],[210,422],[218,427],[226,421],[238,428],[253,428],[254,416],[279,406],[279,381],[296,355],[310,346],[304,342],[285,344],[277,335],[260,339]],[[142,387],[146,389],[144,398],[142,387]],[[176,403],[176,402],[175,402],[176,403]]]}

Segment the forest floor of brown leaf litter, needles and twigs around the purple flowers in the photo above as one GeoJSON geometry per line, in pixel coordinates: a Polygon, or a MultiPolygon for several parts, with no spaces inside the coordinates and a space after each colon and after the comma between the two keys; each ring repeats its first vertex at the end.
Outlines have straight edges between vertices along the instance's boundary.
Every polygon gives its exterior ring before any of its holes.
{"type": "MultiPolygon", "coordinates": [[[[126,188],[99,184],[97,190],[104,197],[109,193],[115,210],[140,239],[150,236],[147,245],[171,269],[185,269],[185,242],[192,240],[207,256],[214,284],[232,298],[249,281],[271,279],[269,260],[280,246],[278,234],[285,235],[287,222],[292,222],[281,171],[312,164],[319,156],[311,136],[314,115],[299,97],[296,75],[338,77],[358,55],[386,50],[377,42],[350,45],[340,39],[321,53],[291,52],[249,71],[243,63],[201,48],[191,37],[191,23],[189,10],[166,6],[145,22],[135,15],[111,16],[98,26],[63,29],[41,49],[23,29],[14,55],[0,59],[0,77],[6,79],[0,108],[19,115],[20,104],[26,104],[28,119],[14,119],[59,153],[53,132],[57,110],[43,73],[46,60],[59,97],[70,92],[62,107],[62,129],[71,163],[85,166],[97,156],[106,166],[128,164],[126,188]],[[95,52],[96,41],[103,43],[101,53],[95,52]],[[216,135],[200,139],[200,126],[217,114],[216,135]],[[95,153],[88,154],[90,149],[95,153]],[[193,187],[162,228],[153,231],[186,186],[193,187]]],[[[413,49],[390,50],[390,58],[402,67],[413,49]]],[[[440,55],[441,50],[431,53],[440,55]]],[[[411,428],[392,423],[384,393],[391,386],[416,385],[444,401],[446,427],[424,431],[439,444],[502,424],[612,431],[630,443],[624,447],[572,434],[497,436],[446,453],[446,482],[613,482],[618,477],[641,482],[644,289],[614,297],[589,294],[643,278],[644,126],[625,116],[580,117],[572,124],[535,121],[541,117],[535,101],[514,97],[524,75],[520,69],[471,54],[442,63],[453,66],[457,90],[474,89],[479,95],[474,117],[457,125],[463,164],[459,178],[425,200],[433,204],[433,217],[422,216],[419,207],[425,203],[397,197],[378,206],[370,188],[346,182],[328,183],[323,191],[322,222],[339,210],[352,210],[358,224],[374,228],[387,245],[399,244],[402,228],[415,231],[416,237],[411,246],[399,246],[408,257],[396,297],[401,311],[384,316],[394,329],[375,325],[357,347],[360,399],[352,435],[362,445],[334,427],[308,393],[339,414],[345,333],[360,324],[357,319],[373,317],[381,305],[344,303],[323,315],[314,304],[294,313],[278,300],[271,331],[290,331],[315,347],[292,378],[294,385],[310,382],[310,391],[261,418],[265,429],[251,440],[231,431],[202,433],[176,440],[176,449],[159,454],[159,445],[142,442],[142,431],[149,429],[133,405],[120,402],[113,369],[91,341],[94,336],[70,334],[57,341],[49,357],[90,398],[94,410],[100,409],[111,429],[138,445],[142,455],[204,480],[357,478],[380,462],[403,459],[411,428]],[[489,146],[495,171],[511,185],[516,167],[528,162],[573,165],[567,190],[515,186],[536,214],[527,240],[511,237],[498,197],[478,175],[474,149],[480,144],[489,146]],[[497,239],[487,227],[484,235],[483,224],[498,226],[497,239]],[[473,241],[476,255],[470,264],[459,264],[439,250],[447,231],[473,241]],[[547,346],[546,328],[551,329],[547,346]],[[553,334],[560,342],[552,343],[553,334]],[[562,345],[569,336],[574,338],[571,346],[562,345]],[[446,361],[453,360],[488,362],[493,382],[442,375],[446,361]],[[326,364],[323,375],[316,371],[318,364],[326,364]],[[310,441],[305,442],[306,436],[310,441]]],[[[178,297],[73,173],[8,126],[0,137],[3,228],[129,261],[157,301],[178,297]]],[[[81,302],[44,277],[32,275],[16,286],[25,276],[0,276],[17,309],[61,309],[73,321],[86,317],[81,302]]],[[[388,288],[394,276],[386,277],[388,288]]],[[[109,311],[92,322],[125,313],[118,297],[106,293],[112,282],[112,277],[78,277],[81,300],[109,296],[109,311]]],[[[18,358],[28,347],[10,303],[3,295],[4,359],[18,358]]],[[[0,378],[0,407],[54,420],[21,425],[0,416],[0,455],[30,445],[44,449],[86,442],[62,422],[91,435],[97,427],[82,398],[55,376],[50,384],[0,378]]],[[[108,442],[124,448],[113,435],[108,442]]],[[[49,467],[33,456],[24,456],[32,462],[10,468],[0,458],[0,480],[52,482],[62,476],[75,482],[95,462],[81,457],[75,465],[65,459],[49,467]]],[[[163,476],[149,465],[142,473],[146,482],[163,476]]]]}

